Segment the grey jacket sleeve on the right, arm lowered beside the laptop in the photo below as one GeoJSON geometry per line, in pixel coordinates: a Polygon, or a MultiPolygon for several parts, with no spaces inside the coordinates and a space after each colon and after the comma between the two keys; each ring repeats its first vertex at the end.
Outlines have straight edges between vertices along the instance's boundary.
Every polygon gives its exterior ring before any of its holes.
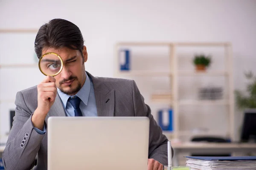
{"type": "MultiPolygon", "coordinates": [[[[168,164],[167,159],[167,142],[168,139],[163,135],[163,131],[154,117],[151,115],[151,109],[145,104],[143,96],[132,80],[132,91],[133,91],[133,102],[134,102],[134,113],[135,116],[147,116],[149,118],[149,148],[148,148],[148,159],[154,159],[159,161],[163,165],[168,164]]],[[[173,149],[172,149],[173,156],[173,149]]]]}

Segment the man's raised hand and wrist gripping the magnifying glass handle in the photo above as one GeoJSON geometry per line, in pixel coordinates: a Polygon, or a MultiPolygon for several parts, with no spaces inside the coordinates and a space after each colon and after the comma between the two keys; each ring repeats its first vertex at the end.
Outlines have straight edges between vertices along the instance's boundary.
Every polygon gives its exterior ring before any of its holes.
{"type": "Polygon", "coordinates": [[[34,127],[40,130],[43,130],[44,119],[52,107],[57,95],[57,87],[55,85],[55,81],[56,80],[54,77],[47,76],[37,87],[38,107],[32,116],[32,123],[34,127]]]}

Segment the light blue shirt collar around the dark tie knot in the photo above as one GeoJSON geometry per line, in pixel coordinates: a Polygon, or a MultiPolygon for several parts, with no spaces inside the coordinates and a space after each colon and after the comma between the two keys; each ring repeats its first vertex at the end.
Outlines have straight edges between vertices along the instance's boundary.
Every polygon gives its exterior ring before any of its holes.
{"type": "MultiPolygon", "coordinates": [[[[77,92],[76,96],[78,96],[85,105],[88,103],[89,94],[90,94],[90,78],[88,77],[87,73],[85,72],[86,79],[82,88],[77,92]]],[[[70,98],[70,95],[64,94],[60,89],[57,88],[58,95],[61,98],[61,101],[64,105],[64,108],[67,106],[67,100],[70,98]]]]}

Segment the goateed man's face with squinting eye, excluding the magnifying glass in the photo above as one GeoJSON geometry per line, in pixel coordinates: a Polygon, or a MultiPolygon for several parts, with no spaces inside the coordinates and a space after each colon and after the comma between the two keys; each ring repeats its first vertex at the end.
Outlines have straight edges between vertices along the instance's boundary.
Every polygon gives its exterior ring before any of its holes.
{"type": "Polygon", "coordinates": [[[83,56],[79,50],[72,50],[67,47],[43,48],[42,54],[48,52],[59,54],[64,62],[61,73],[55,76],[57,88],[70,96],[75,95],[84,85],[86,78],[84,70],[84,62],[87,61],[86,47],[84,46],[83,56]]]}

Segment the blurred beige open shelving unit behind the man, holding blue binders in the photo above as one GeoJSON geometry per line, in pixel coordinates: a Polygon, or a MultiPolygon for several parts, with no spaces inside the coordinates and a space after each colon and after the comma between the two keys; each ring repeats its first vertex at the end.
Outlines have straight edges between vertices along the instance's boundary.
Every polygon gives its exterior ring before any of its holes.
{"type": "MultiPolygon", "coordinates": [[[[180,130],[180,107],[190,106],[225,106],[228,110],[228,132],[226,137],[234,140],[234,96],[233,96],[233,57],[232,45],[229,42],[118,42],[115,45],[115,59],[114,59],[114,77],[169,77],[171,79],[171,92],[163,92],[163,94],[150,94],[151,101],[166,105],[171,105],[173,110],[173,131],[164,132],[168,138],[179,139],[180,136],[189,135],[191,131],[180,130]],[[164,46],[169,48],[169,71],[135,71],[132,68],[128,71],[119,69],[119,49],[128,47],[157,47],[164,46]],[[177,48],[224,48],[225,68],[218,71],[181,71],[179,70],[179,61],[177,56],[177,48]],[[219,100],[200,100],[200,99],[180,99],[178,92],[180,77],[225,77],[227,78],[227,99],[219,100]]],[[[131,49],[132,51],[132,49],[131,49]]],[[[130,56],[133,57],[132,55],[130,56]]],[[[139,57],[139,56],[136,56],[139,57]]],[[[214,57],[212,57],[214,58],[214,57]]],[[[132,66],[132,65],[131,65],[132,66]]],[[[196,135],[218,135],[220,131],[210,130],[209,132],[197,133],[196,135]]]]}

